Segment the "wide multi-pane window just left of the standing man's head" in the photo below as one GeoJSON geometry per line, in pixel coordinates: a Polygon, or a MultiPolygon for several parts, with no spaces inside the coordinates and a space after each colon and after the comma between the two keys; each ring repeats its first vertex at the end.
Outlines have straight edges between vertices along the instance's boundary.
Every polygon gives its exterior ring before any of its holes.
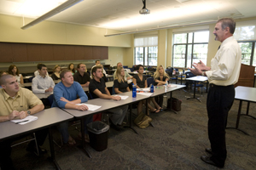
{"type": "Polygon", "coordinates": [[[173,35],[172,66],[191,67],[200,60],[207,63],[209,31],[173,35]]]}

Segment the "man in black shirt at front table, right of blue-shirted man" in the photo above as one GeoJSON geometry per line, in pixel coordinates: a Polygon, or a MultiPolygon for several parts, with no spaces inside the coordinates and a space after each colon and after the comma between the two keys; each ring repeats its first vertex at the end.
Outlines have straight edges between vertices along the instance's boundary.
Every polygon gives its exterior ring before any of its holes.
{"type": "MultiPolygon", "coordinates": [[[[93,78],[90,80],[89,91],[93,99],[96,99],[96,98],[113,99],[113,100],[121,99],[119,96],[110,95],[108,88],[106,87],[105,81],[102,79],[101,66],[93,67],[91,73],[93,78]]],[[[120,130],[121,128],[120,126],[123,123],[127,110],[128,110],[128,105],[122,105],[122,106],[119,106],[118,108],[108,110],[109,112],[113,113],[109,120],[109,122],[111,122],[110,126],[116,130],[120,130]]]]}

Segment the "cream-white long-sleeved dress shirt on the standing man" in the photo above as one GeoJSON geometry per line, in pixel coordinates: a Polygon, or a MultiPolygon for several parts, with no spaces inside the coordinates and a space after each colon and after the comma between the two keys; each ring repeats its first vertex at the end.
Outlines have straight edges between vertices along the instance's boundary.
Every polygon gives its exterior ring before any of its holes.
{"type": "Polygon", "coordinates": [[[211,71],[206,71],[206,75],[212,84],[229,86],[238,81],[240,68],[241,48],[232,36],[222,42],[211,61],[211,71]]]}

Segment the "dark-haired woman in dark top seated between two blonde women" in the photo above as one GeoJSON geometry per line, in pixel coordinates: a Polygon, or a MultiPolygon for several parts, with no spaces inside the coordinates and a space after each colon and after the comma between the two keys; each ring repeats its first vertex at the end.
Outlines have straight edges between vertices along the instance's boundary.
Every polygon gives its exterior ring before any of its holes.
{"type": "MultiPolygon", "coordinates": [[[[143,65],[137,65],[137,75],[134,75],[132,78],[132,82],[133,84],[137,84],[137,88],[148,88],[147,78],[143,76],[143,71],[144,71],[143,65]]],[[[154,98],[149,98],[148,108],[151,112],[154,112],[154,113],[158,113],[162,110],[160,105],[158,105],[155,102],[154,98]],[[152,103],[157,109],[154,108],[152,105],[150,105],[150,101],[152,101],[152,103]]]]}

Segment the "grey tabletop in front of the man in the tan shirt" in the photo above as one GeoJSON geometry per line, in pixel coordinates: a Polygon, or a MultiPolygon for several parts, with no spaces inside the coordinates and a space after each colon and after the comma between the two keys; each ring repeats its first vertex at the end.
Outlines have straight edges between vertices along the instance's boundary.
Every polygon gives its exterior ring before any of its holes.
{"type": "Polygon", "coordinates": [[[38,120],[28,122],[24,125],[15,122],[0,122],[0,139],[8,138],[17,134],[28,133],[41,127],[49,127],[53,124],[73,119],[73,116],[55,107],[40,111],[33,116],[38,116],[38,120]]]}

